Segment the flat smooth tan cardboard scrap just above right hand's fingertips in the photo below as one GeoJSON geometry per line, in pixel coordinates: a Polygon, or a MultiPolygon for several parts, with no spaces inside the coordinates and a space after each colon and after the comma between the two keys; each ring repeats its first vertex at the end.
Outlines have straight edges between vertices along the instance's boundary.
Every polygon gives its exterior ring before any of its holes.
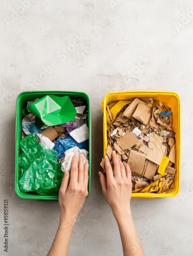
{"type": "Polygon", "coordinates": [[[137,135],[133,132],[126,132],[125,135],[117,141],[117,143],[122,150],[127,150],[128,148],[136,145],[138,141],[136,136],[137,135]]]}

